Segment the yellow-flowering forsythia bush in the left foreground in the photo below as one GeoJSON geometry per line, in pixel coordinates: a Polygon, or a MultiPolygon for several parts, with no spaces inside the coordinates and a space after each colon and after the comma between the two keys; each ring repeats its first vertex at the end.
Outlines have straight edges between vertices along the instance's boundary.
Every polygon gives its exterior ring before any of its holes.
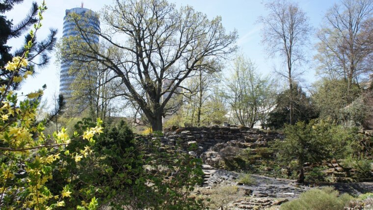
{"type": "MultiPolygon", "coordinates": [[[[22,56],[13,57],[4,67],[13,72],[7,85],[0,87],[0,209],[37,209],[52,210],[65,206],[72,193],[69,185],[63,187],[58,194],[51,193],[46,183],[53,179],[53,172],[65,164],[61,156],[72,157],[76,162],[92,153],[90,146],[79,152],[70,153],[66,146],[71,139],[80,139],[93,145],[95,134],[102,132],[102,121],[96,126],[87,128],[83,134],[75,132],[71,138],[65,129],[53,133],[43,133],[43,122],[36,121],[38,99],[43,94],[39,90],[27,95],[27,99],[19,101],[17,94],[11,90],[13,83],[22,82],[32,74],[23,71],[28,65],[28,53],[32,47],[35,34],[41,27],[42,14],[47,9],[45,2],[39,7],[39,21],[30,31],[31,41],[25,46],[22,56]],[[22,76],[16,76],[22,75],[22,76]]],[[[93,197],[82,202],[77,209],[93,210],[97,206],[93,197]]]]}

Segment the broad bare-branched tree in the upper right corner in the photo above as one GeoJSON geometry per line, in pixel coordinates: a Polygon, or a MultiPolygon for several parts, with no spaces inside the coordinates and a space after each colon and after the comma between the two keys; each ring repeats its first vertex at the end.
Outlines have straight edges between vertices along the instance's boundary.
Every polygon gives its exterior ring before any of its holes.
{"type": "Polygon", "coordinates": [[[372,72],[373,0],[343,0],[327,11],[324,23],[315,56],[320,73],[345,79],[350,94],[352,84],[372,72]]]}

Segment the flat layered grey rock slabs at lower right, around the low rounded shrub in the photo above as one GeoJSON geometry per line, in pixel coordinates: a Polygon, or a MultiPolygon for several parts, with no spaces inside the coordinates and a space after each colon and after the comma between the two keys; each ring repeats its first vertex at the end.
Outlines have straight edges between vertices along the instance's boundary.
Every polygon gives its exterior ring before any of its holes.
{"type": "MultiPolygon", "coordinates": [[[[240,183],[240,174],[225,170],[216,170],[206,180],[205,187],[216,188],[216,186],[237,185],[239,190],[243,190],[244,196],[231,202],[227,210],[265,210],[277,207],[282,203],[296,199],[302,192],[312,188],[323,186],[333,186],[340,193],[348,193],[358,196],[363,193],[373,191],[373,183],[324,183],[319,185],[299,185],[294,180],[270,178],[265,176],[250,175],[253,184],[244,185],[240,183]]],[[[369,198],[371,199],[371,198],[369,198]]],[[[353,208],[371,210],[372,200],[367,199],[356,204],[353,208]]]]}

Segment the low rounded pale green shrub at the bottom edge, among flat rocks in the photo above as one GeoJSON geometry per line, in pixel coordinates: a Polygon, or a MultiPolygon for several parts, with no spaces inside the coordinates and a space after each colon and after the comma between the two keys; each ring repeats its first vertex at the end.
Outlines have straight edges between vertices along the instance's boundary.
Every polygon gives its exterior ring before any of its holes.
{"type": "Polygon", "coordinates": [[[339,195],[332,187],[311,189],[296,200],[281,205],[280,210],[343,210],[351,201],[348,194],[339,195]]]}

